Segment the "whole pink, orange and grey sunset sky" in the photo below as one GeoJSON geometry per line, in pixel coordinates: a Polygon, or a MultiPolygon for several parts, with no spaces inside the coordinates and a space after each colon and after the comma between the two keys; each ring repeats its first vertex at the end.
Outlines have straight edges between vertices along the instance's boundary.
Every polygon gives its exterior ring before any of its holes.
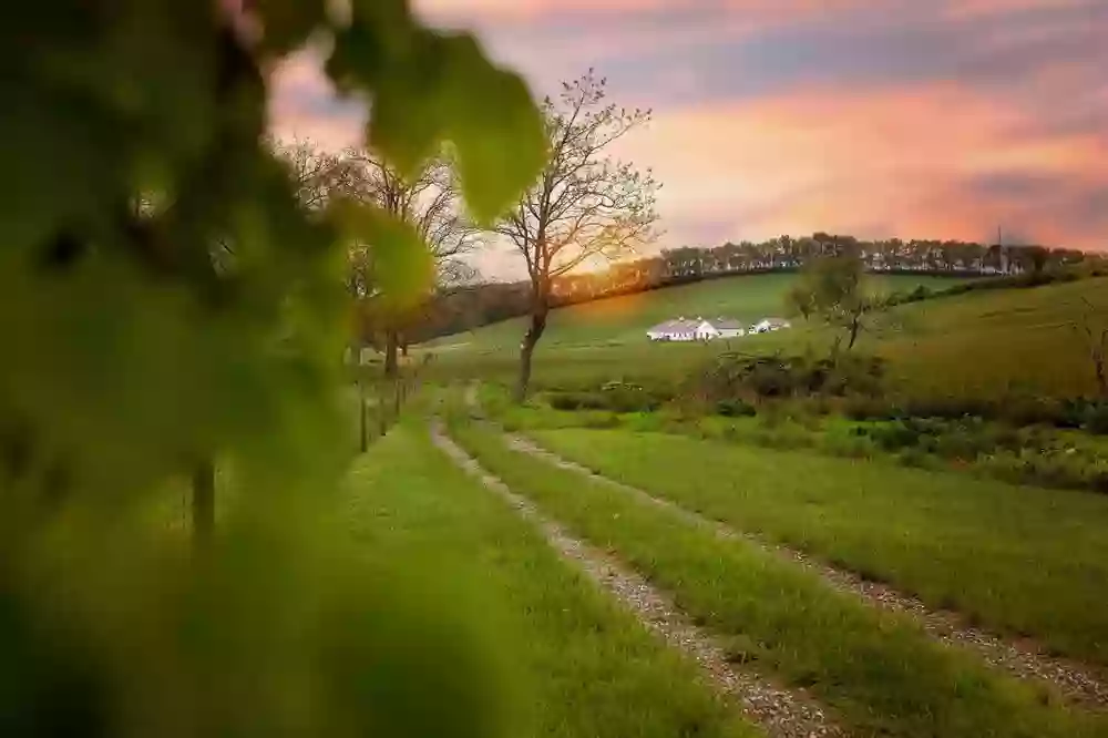
{"type": "MultiPolygon", "coordinates": [[[[653,111],[652,250],[817,230],[1108,250],[1108,0],[413,0],[541,98],[589,68],[653,111]]],[[[270,125],[362,139],[310,55],[270,125]]],[[[489,278],[522,260],[490,248],[489,278]]]]}

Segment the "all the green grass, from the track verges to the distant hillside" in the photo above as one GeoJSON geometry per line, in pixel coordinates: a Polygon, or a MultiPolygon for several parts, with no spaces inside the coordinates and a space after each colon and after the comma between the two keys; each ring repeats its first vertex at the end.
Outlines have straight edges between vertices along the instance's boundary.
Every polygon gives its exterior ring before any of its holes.
{"type": "MultiPolygon", "coordinates": [[[[595,387],[625,379],[675,386],[726,348],[821,351],[827,334],[810,326],[730,346],[652,345],[642,336],[647,325],[675,312],[745,319],[777,314],[791,278],[722,279],[560,310],[536,353],[536,385],[595,387]],[[728,291],[740,283],[741,295],[728,291]]],[[[860,349],[889,360],[889,394],[1005,402],[1088,394],[1095,382],[1075,322],[1085,299],[1108,307],[1100,297],[1108,296],[1106,288],[1108,278],[1088,279],[904,305],[864,335],[860,349]]],[[[1108,328],[1108,310],[1102,319],[1108,328]]],[[[533,427],[537,418],[547,428],[530,434],[566,458],[736,530],[886,582],[932,608],[957,611],[987,631],[1030,637],[1054,654],[1108,668],[1101,603],[1108,591],[1108,496],[888,460],[757,448],[739,439],[634,432],[630,422],[618,431],[581,427],[606,424],[606,411],[560,412],[542,402],[507,409],[496,382],[514,375],[520,330],[507,322],[443,341],[450,348],[431,349],[438,356],[424,380],[481,379],[491,417],[521,427],[533,427]]],[[[839,592],[812,571],[507,449],[495,429],[468,422],[460,398],[452,392],[445,408],[451,427],[483,465],[574,535],[666,591],[693,622],[724,638],[736,664],[809,690],[848,735],[1108,736],[1108,715],[1067,707],[1047,687],[1017,681],[971,650],[943,645],[917,622],[839,592]]],[[[770,409],[781,406],[759,404],[756,418],[740,420],[763,423],[770,409]]],[[[626,418],[664,421],[681,412],[667,406],[626,418]]],[[[655,426],[638,426],[647,427],[655,426]]],[[[1080,434],[1081,443],[1096,440],[1085,431],[1058,432],[1080,434]]],[[[353,480],[353,527],[368,552],[428,553],[431,561],[469,567],[493,593],[489,617],[500,624],[523,675],[519,684],[527,687],[533,731],[526,735],[750,735],[750,726],[700,685],[688,663],[561,563],[423,434],[402,423],[359,461],[353,480]]]]}

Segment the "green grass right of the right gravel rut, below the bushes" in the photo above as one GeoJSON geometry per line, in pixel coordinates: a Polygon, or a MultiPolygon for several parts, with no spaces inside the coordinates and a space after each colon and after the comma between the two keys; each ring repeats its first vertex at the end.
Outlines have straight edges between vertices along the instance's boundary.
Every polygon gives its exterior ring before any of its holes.
{"type": "Polygon", "coordinates": [[[1108,665],[1108,498],[656,433],[537,431],[612,479],[1108,665]]]}

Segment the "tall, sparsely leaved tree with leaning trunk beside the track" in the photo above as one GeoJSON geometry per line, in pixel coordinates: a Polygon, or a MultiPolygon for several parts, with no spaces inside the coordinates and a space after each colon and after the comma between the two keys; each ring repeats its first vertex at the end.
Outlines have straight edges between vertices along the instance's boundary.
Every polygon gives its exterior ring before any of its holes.
{"type": "Polygon", "coordinates": [[[657,233],[649,170],[606,155],[650,112],[606,103],[606,80],[593,70],[543,101],[550,163],[534,186],[496,227],[523,255],[531,280],[530,325],[520,346],[516,399],[531,382],[535,346],[546,329],[552,280],[594,259],[614,259],[649,243],[657,233]]]}

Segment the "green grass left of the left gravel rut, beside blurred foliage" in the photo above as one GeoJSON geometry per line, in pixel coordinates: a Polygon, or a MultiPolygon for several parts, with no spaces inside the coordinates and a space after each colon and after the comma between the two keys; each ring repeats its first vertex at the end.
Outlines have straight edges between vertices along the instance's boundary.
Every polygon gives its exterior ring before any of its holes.
{"type": "MultiPolygon", "coordinates": [[[[527,730],[517,735],[759,735],[698,680],[695,666],[434,449],[425,429],[398,428],[359,459],[346,514],[369,556],[443,566],[443,576],[461,568],[473,577],[499,634],[500,660],[520,673],[514,696],[527,703],[527,730]]],[[[427,709],[435,709],[434,695],[427,699],[427,709]]]]}

